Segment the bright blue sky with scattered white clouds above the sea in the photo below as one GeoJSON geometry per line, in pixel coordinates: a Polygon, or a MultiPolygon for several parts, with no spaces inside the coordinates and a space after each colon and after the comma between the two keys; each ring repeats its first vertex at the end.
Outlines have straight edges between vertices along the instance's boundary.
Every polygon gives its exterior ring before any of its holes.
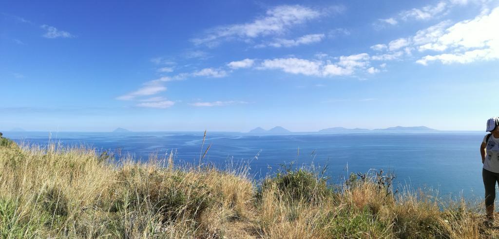
{"type": "Polygon", "coordinates": [[[0,130],[485,130],[498,6],[0,1],[0,130]]]}

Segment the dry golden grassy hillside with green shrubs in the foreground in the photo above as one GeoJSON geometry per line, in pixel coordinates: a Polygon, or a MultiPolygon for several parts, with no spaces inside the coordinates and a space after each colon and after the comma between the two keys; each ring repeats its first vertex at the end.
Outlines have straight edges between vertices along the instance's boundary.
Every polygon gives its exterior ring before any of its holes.
{"type": "Polygon", "coordinates": [[[482,205],[393,192],[391,177],[326,185],[311,170],[119,164],[93,149],[0,144],[1,238],[482,238],[482,205]]]}

